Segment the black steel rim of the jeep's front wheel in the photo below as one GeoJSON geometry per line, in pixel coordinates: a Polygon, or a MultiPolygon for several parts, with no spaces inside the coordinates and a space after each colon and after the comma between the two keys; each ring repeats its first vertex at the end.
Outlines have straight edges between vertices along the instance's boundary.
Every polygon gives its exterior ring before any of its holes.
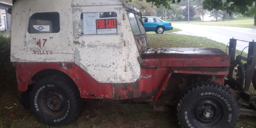
{"type": "Polygon", "coordinates": [[[199,99],[190,108],[190,116],[194,124],[204,127],[220,124],[224,118],[224,112],[224,106],[215,98],[199,99]]]}

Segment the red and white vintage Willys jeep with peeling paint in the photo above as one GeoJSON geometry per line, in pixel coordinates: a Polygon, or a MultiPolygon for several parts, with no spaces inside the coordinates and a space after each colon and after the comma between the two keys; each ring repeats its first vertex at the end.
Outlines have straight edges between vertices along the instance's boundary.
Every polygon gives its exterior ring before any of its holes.
{"type": "MultiPolygon", "coordinates": [[[[230,55],[216,48],[150,48],[140,11],[121,0],[13,3],[18,99],[40,121],[73,121],[80,98],[177,101],[181,127],[227,128],[238,121],[239,104],[225,87],[237,81],[226,77],[237,69],[230,66],[234,40],[230,55]]],[[[231,87],[237,98],[247,91],[231,87]]]]}

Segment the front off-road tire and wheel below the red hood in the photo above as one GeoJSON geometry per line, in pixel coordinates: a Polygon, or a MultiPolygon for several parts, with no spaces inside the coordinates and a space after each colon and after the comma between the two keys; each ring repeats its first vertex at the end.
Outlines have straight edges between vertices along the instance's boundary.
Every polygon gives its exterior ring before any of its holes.
{"type": "Polygon", "coordinates": [[[202,81],[187,87],[181,94],[177,117],[182,128],[234,128],[239,118],[239,105],[225,86],[202,81]]]}

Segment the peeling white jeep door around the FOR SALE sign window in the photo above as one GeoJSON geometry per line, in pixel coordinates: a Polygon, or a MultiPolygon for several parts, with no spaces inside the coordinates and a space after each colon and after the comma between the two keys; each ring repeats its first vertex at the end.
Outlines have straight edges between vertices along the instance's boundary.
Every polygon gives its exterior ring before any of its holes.
{"type": "Polygon", "coordinates": [[[134,82],[140,75],[138,48],[123,4],[119,0],[73,1],[74,41],[80,42],[74,44],[75,56],[80,58],[76,58],[75,63],[100,83],[134,82]],[[116,12],[117,34],[81,35],[80,16],[86,12],[116,12]],[[125,20],[123,14],[127,17],[125,20]]]}

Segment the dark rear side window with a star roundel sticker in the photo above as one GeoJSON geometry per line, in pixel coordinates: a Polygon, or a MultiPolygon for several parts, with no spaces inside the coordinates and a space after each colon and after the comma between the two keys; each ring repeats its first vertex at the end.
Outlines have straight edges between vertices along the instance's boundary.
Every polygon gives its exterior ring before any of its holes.
{"type": "Polygon", "coordinates": [[[28,33],[58,33],[60,14],[58,12],[35,13],[29,18],[28,33]]]}

